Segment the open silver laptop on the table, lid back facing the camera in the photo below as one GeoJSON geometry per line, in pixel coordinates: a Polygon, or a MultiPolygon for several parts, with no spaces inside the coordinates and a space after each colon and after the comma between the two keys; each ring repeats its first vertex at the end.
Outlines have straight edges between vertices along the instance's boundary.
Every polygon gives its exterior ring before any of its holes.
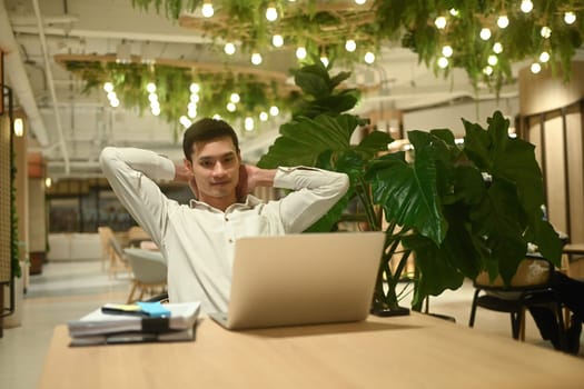
{"type": "Polygon", "coordinates": [[[372,305],[383,232],[300,233],[236,241],[225,328],[364,320],[372,305]]]}

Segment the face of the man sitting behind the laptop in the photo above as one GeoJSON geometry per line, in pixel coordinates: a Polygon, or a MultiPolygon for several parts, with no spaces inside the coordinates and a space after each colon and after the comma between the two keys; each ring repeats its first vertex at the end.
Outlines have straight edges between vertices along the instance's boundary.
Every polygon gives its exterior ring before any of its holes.
{"type": "Polygon", "coordinates": [[[195,176],[198,199],[208,203],[214,203],[214,200],[235,202],[241,161],[231,138],[195,142],[190,157],[192,163],[186,161],[186,166],[195,176]]]}

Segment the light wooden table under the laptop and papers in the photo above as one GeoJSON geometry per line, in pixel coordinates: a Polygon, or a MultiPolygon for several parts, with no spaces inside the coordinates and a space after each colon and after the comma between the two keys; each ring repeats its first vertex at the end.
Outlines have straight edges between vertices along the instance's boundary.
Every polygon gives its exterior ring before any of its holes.
{"type": "Polygon", "coordinates": [[[40,388],[583,388],[584,360],[413,312],[230,332],[181,343],[68,347],[55,330],[40,388]]]}

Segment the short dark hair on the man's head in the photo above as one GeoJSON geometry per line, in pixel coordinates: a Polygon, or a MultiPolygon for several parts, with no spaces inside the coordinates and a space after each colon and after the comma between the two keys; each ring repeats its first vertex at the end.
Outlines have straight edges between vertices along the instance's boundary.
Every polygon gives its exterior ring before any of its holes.
{"type": "Polygon", "coordinates": [[[217,138],[231,138],[235,149],[239,152],[239,140],[234,128],[227,122],[218,119],[204,118],[192,123],[182,136],[182,151],[185,158],[190,161],[192,154],[192,144],[196,142],[205,142],[217,138]]]}

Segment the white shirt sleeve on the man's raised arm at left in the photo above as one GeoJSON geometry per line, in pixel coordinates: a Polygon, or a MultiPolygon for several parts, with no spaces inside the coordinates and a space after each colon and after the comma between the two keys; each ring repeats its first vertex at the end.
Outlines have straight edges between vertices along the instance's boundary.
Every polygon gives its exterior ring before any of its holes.
{"type": "Polygon", "coordinates": [[[99,163],[120,202],[161,247],[171,201],[155,180],[174,179],[172,161],[149,150],[107,147],[101,151],[99,163]]]}

